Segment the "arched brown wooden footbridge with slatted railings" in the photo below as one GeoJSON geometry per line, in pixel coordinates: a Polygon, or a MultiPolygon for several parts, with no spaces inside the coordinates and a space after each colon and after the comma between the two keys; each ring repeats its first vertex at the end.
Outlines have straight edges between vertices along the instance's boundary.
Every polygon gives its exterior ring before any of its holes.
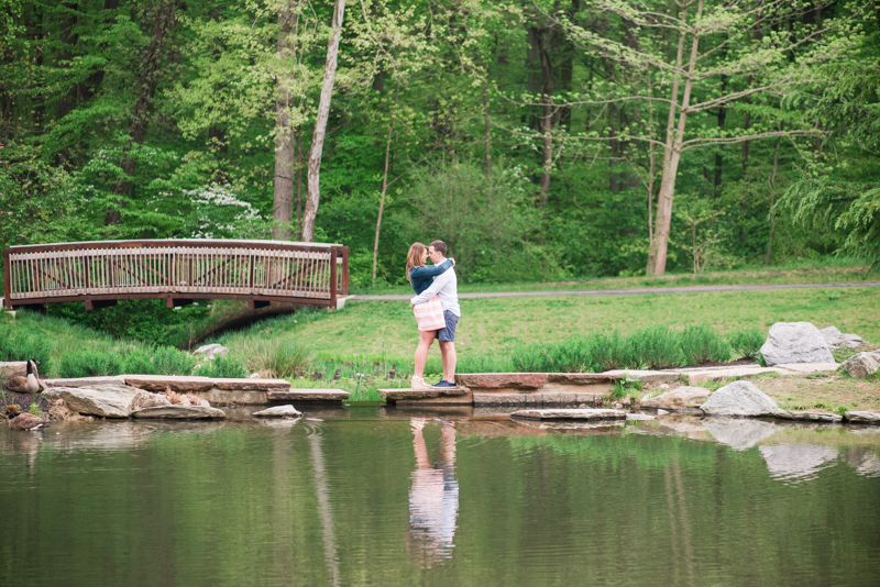
{"type": "Polygon", "coordinates": [[[349,247],[280,241],[98,241],[3,250],[7,308],[157,298],[337,307],[349,292],[349,247]]]}

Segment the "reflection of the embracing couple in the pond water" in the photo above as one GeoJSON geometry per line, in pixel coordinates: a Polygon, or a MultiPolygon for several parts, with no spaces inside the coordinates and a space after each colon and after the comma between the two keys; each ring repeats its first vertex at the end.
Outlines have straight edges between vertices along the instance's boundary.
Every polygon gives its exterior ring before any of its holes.
{"type": "Polygon", "coordinates": [[[409,490],[410,556],[421,568],[452,558],[459,516],[459,481],[455,480],[455,429],[444,422],[440,434],[440,459],[435,467],[428,458],[422,429],[425,419],[414,418],[413,448],[416,470],[409,490]],[[417,558],[418,557],[418,558],[417,558]]]}

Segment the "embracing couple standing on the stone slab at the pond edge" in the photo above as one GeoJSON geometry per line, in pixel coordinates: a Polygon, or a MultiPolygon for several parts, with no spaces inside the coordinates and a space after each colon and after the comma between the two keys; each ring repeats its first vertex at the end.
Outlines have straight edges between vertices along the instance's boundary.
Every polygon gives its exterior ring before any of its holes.
{"type": "Polygon", "coordinates": [[[447,258],[447,245],[435,241],[427,247],[415,243],[406,257],[406,276],[416,291],[409,300],[419,325],[419,346],[413,389],[455,387],[455,325],[461,317],[455,259],[447,258]],[[425,265],[428,259],[433,265],[425,265]],[[443,378],[435,386],[425,383],[425,364],[435,339],[440,344],[443,378]]]}

